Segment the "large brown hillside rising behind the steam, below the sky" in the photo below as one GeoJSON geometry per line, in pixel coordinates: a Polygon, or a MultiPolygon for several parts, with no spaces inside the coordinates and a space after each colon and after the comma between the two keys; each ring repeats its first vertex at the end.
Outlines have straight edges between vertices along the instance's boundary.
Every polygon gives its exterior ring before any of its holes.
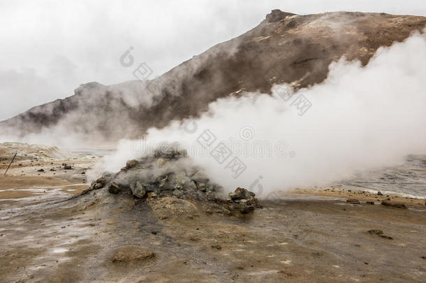
{"type": "MultiPolygon", "coordinates": [[[[103,141],[139,137],[172,119],[197,117],[224,96],[267,93],[282,82],[296,82],[295,87],[322,82],[330,63],[343,56],[365,65],[379,47],[404,41],[425,23],[426,17],[409,15],[294,15],[273,10],[246,34],[215,45],[159,78],[81,85],[73,96],[1,122],[1,132],[25,135],[60,126],[86,139],[88,134],[103,141]]],[[[129,71],[133,68],[137,66],[129,71]]]]}

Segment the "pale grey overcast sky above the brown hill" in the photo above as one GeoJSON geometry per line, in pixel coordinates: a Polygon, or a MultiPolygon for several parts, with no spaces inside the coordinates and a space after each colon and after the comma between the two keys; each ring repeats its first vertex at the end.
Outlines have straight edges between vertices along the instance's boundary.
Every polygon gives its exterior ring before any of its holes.
{"type": "Polygon", "coordinates": [[[130,47],[155,75],[255,27],[274,8],[426,15],[424,0],[0,0],[0,120],[73,95],[85,82],[132,80],[130,47]]]}

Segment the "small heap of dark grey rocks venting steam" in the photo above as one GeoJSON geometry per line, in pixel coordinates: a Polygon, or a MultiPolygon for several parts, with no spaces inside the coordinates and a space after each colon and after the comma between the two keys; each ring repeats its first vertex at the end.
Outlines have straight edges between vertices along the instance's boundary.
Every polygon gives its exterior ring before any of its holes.
{"type": "Polygon", "coordinates": [[[170,146],[152,156],[130,160],[118,173],[104,173],[91,183],[91,190],[108,189],[110,194],[135,198],[182,198],[210,203],[207,212],[249,213],[260,207],[255,194],[237,188],[223,195],[223,187],[210,182],[200,168],[191,164],[186,152],[170,146]]]}

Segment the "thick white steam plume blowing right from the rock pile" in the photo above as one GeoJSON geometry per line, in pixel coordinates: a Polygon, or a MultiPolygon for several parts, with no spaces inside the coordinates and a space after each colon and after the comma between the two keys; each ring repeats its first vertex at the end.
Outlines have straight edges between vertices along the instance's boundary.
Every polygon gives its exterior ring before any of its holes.
{"type": "Polygon", "coordinates": [[[89,177],[116,171],[164,141],[186,147],[226,190],[251,188],[260,197],[399,164],[407,154],[426,151],[425,61],[426,36],[417,33],[379,48],[365,67],[344,59],[332,63],[323,83],[299,89],[288,101],[281,98],[288,85],[275,85],[272,96],[219,99],[198,119],[149,129],[142,140],[121,140],[117,153],[105,157],[89,177]],[[294,105],[300,95],[311,103],[303,115],[294,105]],[[216,138],[207,150],[197,143],[205,130],[216,138]],[[231,155],[219,164],[210,152],[221,141],[231,155]],[[246,167],[237,177],[226,168],[234,157],[246,167]]]}

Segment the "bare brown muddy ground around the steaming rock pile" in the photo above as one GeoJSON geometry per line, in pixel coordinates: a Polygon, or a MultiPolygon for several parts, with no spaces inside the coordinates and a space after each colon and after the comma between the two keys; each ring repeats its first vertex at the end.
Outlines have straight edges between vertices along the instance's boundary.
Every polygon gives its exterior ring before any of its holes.
{"type": "Polygon", "coordinates": [[[424,200],[298,190],[236,217],[105,189],[69,199],[97,157],[73,158],[17,161],[1,177],[0,282],[424,282],[424,200]]]}

